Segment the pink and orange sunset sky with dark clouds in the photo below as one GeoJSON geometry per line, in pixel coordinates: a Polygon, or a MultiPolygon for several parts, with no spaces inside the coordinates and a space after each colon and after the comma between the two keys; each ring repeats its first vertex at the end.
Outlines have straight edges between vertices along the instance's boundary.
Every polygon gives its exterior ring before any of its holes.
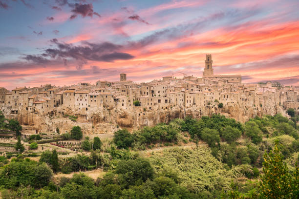
{"type": "Polygon", "coordinates": [[[299,85],[299,0],[0,0],[0,87],[183,73],[299,85]]]}

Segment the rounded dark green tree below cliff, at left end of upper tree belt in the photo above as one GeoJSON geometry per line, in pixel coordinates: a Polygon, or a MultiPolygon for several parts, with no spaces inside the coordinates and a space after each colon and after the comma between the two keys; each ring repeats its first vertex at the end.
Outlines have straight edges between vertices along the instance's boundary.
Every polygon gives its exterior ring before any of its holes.
{"type": "Polygon", "coordinates": [[[113,142],[117,148],[128,148],[133,142],[133,135],[127,129],[114,132],[113,142]]]}

